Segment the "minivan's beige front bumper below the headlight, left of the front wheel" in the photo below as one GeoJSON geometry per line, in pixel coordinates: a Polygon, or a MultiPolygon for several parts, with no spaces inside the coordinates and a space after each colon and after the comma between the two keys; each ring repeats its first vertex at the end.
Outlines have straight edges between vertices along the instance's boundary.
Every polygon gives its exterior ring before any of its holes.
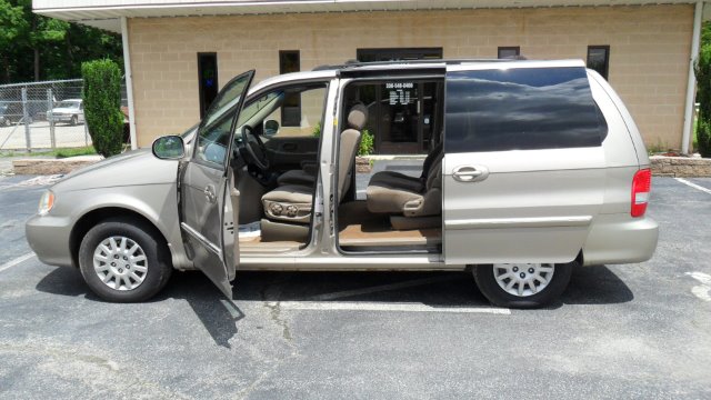
{"type": "Polygon", "coordinates": [[[34,216],[24,224],[24,234],[40,261],[50,266],[72,266],[69,218],[34,216]]]}

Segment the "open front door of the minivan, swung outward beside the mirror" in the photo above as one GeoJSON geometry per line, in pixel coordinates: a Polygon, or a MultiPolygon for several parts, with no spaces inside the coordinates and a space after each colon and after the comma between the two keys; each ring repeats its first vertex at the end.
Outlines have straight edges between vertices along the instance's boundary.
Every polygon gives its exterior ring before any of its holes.
{"type": "MultiPolygon", "coordinates": [[[[230,299],[239,251],[237,244],[226,249],[224,243],[239,240],[224,238],[227,227],[232,226],[229,222],[234,222],[237,230],[236,221],[224,221],[224,209],[238,203],[232,199],[238,193],[231,191],[229,159],[234,124],[253,76],[253,70],[244,72],[220,91],[198,128],[192,156],[181,162],[178,177],[180,228],[188,258],[230,299]]],[[[237,218],[239,212],[227,214],[237,218]]]]}

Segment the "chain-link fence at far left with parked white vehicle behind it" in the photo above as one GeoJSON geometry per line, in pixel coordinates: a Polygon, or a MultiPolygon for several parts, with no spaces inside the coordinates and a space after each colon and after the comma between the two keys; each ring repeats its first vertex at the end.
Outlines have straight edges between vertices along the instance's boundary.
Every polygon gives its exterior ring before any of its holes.
{"type": "MultiPolygon", "coordinates": [[[[0,151],[91,144],[81,79],[0,86],[0,151]]],[[[126,106],[126,87],[121,87],[126,106]]]]}

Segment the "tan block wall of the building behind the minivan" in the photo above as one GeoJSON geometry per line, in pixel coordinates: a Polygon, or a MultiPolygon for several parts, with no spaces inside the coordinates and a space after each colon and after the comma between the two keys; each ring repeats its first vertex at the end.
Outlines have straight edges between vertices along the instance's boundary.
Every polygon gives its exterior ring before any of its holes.
{"type": "Polygon", "coordinates": [[[129,20],[139,146],[199,120],[198,52],[217,52],[219,83],[256,68],[279,72],[279,50],[301,69],[341,63],[358,48],[442,47],[445,58],[585,59],[610,46],[609,80],[648,146],[681,147],[693,6],[299,13],[129,20]]]}

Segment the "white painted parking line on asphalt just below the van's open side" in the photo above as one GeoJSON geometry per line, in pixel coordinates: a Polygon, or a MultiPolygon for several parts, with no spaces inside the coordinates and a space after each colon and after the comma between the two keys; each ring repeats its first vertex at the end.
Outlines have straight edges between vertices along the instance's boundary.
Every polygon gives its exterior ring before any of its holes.
{"type": "Polygon", "coordinates": [[[495,307],[432,307],[423,303],[389,303],[371,301],[280,301],[282,310],[303,311],[395,311],[395,312],[448,312],[489,313],[510,316],[511,310],[495,307]]]}

